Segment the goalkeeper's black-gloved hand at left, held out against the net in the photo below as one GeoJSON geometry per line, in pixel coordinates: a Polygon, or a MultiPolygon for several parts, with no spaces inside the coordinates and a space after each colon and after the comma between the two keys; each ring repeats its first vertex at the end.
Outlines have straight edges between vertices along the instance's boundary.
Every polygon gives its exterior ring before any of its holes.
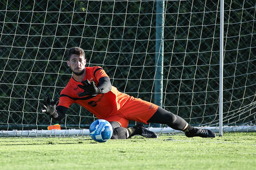
{"type": "Polygon", "coordinates": [[[45,113],[47,115],[53,115],[56,111],[56,105],[58,105],[59,99],[55,98],[54,101],[51,102],[50,96],[44,99],[43,103],[41,103],[41,113],[45,113]]]}

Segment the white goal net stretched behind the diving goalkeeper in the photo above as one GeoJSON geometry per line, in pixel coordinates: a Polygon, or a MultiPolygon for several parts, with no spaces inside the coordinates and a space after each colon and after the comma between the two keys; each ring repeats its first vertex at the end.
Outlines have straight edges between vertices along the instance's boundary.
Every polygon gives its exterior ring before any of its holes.
{"type": "MultiPolygon", "coordinates": [[[[256,130],[255,6],[224,2],[226,131],[256,130]]],[[[219,130],[219,1],[1,0],[0,11],[0,136],[88,134],[96,117],[77,104],[58,122],[38,112],[69,81],[67,51],[74,46],[120,92],[219,130]],[[62,130],[47,130],[56,123],[62,130]]]]}

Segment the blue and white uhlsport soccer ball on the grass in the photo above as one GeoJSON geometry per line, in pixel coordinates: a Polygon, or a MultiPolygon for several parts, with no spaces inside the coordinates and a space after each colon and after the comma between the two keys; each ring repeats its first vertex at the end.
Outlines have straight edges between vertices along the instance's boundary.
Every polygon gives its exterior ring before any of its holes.
{"type": "Polygon", "coordinates": [[[108,141],[113,134],[113,129],[111,124],[103,119],[95,120],[90,128],[90,137],[97,142],[108,141]]]}

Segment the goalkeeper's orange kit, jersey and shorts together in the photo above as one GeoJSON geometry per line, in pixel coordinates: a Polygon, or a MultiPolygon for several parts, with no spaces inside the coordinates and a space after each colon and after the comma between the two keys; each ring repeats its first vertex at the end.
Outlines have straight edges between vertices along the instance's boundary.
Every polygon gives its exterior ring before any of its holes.
{"type": "MultiPolygon", "coordinates": [[[[93,81],[97,86],[101,77],[108,77],[101,67],[86,67],[86,75],[83,80],[93,81]]],[[[78,87],[79,84],[82,85],[73,76],[70,78],[70,81],[61,92],[58,106],[69,108],[71,104],[77,103],[94,114],[98,119],[105,119],[109,122],[116,121],[122,127],[127,127],[129,120],[147,124],[146,121],[158,108],[153,103],[121,93],[114,86],[107,93],[78,97],[78,94],[84,91],[78,87]]]]}

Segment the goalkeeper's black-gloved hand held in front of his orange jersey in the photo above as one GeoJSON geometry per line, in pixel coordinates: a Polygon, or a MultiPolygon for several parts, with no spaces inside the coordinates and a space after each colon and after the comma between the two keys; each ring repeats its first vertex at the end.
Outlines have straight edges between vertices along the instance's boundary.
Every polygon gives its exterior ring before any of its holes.
{"type": "Polygon", "coordinates": [[[78,85],[78,87],[83,89],[84,92],[81,92],[80,94],[78,94],[79,97],[98,94],[99,89],[95,86],[95,83],[93,81],[89,82],[89,80],[86,79],[84,81],[81,81],[81,83],[83,85],[78,85]]]}

